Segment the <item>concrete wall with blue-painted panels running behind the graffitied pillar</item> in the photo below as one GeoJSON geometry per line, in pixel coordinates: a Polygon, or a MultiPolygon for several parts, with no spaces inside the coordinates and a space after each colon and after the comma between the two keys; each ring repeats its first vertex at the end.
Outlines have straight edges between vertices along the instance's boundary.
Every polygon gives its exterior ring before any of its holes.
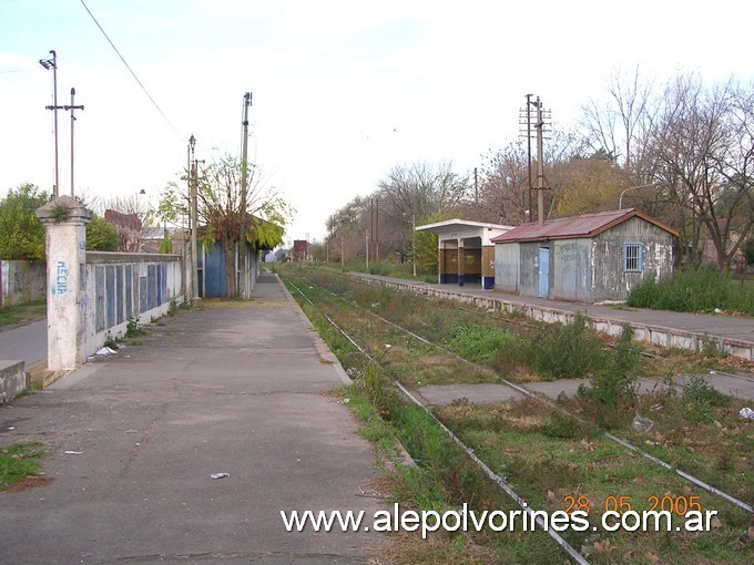
{"type": "Polygon", "coordinates": [[[181,256],[88,251],[84,282],[84,349],[91,356],[108,333],[125,333],[130,320],[149,323],[171,300],[183,302],[181,256]]]}

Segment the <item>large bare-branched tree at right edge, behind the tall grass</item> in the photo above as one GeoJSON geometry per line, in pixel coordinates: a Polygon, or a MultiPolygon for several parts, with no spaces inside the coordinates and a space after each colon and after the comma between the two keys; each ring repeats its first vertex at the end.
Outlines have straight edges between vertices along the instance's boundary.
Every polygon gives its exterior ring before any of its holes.
{"type": "Polygon", "coordinates": [[[753,101],[751,89],[733,80],[705,88],[697,76],[680,75],[668,85],[653,131],[685,239],[695,250],[703,226],[723,268],[754,227],[753,101]]]}

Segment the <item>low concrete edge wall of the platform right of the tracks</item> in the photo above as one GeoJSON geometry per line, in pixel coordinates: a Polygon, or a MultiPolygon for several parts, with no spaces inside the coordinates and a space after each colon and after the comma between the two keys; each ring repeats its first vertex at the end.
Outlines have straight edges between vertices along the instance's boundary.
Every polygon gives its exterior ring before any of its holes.
{"type": "MultiPolygon", "coordinates": [[[[415,282],[400,282],[393,280],[377,280],[370,277],[361,277],[357,273],[351,273],[349,276],[357,278],[361,282],[373,286],[385,285],[389,288],[395,288],[401,292],[415,292],[426,295],[432,298],[442,300],[456,300],[459,302],[485,308],[488,310],[500,310],[518,316],[527,316],[538,321],[548,323],[568,323],[574,317],[575,312],[568,310],[558,310],[556,308],[548,308],[544,306],[511,302],[500,298],[477,296],[463,294],[461,291],[444,290],[437,287],[424,287],[415,282]]],[[[595,316],[587,316],[594,326],[597,331],[608,333],[613,337],[619,337],[623,331],[623,320],[613,320],[610,318],[599,318],[595,316]]],[[[754,342],[742,341],[737,339],[714,337],[706,333],[697,333],[694,331],[686,331],[676,328],[664,328],[661,326],[650,326],[646,323],[632,322],[633,337],[639,341],[648,341],[663,347],[677,347],[691,351],[703,351],[710,343],[714,345],[720,351],[754,361],[754,342]]]]}

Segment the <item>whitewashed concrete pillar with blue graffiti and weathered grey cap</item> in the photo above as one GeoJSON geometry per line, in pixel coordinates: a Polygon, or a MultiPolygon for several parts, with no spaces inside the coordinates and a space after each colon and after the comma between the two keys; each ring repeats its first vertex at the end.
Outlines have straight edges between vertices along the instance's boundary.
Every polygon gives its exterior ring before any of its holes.
{"type": "Polygon", "coordinates": [[[71,371],[86,361],[84,285],[91,210],[60,196],[37,210],[44,225],[48,270],[48,369],[71,371]]]}

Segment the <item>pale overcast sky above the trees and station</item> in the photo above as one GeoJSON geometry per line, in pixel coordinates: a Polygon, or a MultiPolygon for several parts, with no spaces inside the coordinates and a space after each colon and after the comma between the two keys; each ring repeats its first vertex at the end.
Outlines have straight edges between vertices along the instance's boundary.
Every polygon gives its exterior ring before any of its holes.
{"type": "MultiPolygon", "coordinates": [[[[326,217],[394,165],[472,171],[516,141],[527,93],[570,129],[618,66],[660,81],[754,76],[744,0],[84,2],[156,107],[81,0],[0,0],[0,196],[52,188],[52,72],[38,61],[54,49],[58,103],[74,86],[85,106],[77,193],[156,202],[192,134],[197,158],[238,155],[251,91],[251,154],[297,209],[286,239],[322,238],[326,217]]],[[[68,194],[68,112],[59,123],[68,194]]]]}

